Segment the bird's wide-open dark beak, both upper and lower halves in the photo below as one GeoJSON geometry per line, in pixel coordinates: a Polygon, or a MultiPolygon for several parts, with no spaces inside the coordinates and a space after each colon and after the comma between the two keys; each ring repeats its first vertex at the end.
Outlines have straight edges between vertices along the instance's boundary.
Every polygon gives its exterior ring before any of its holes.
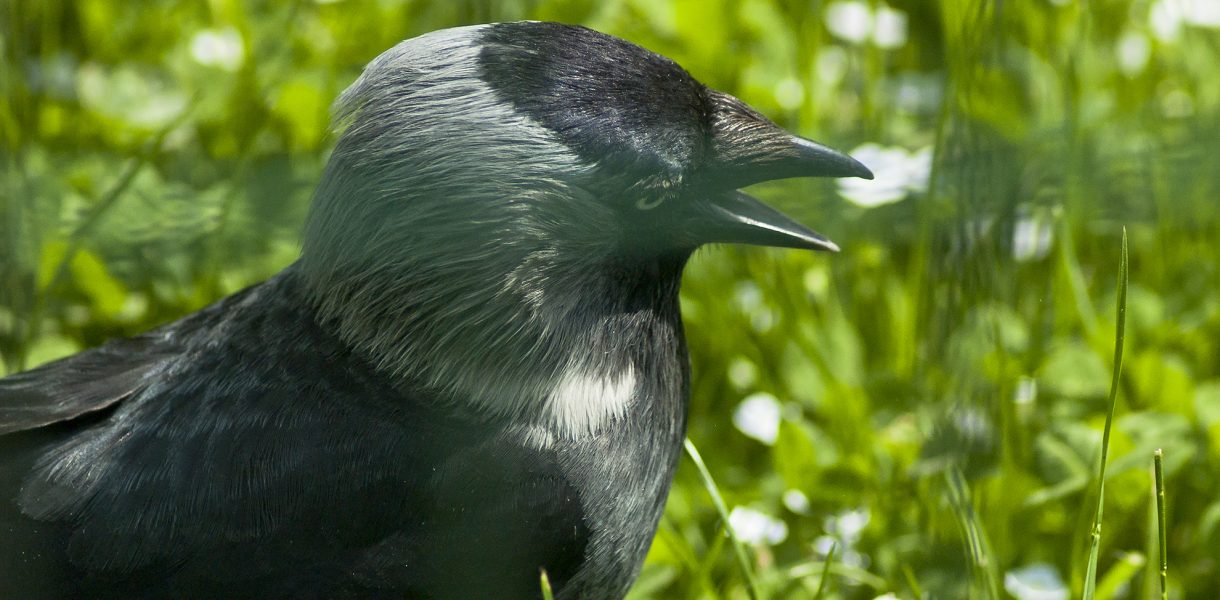
{"type": "Polygon", "coordinates": [[[855,159],[793,135],[741,100],[712,93],[716,104],[712,163],[703,177],[695,234],[702,243],[838,251],[826,237],[737,191],[754,183],[791,177],[860,177],[872,172],[855,159]]]}

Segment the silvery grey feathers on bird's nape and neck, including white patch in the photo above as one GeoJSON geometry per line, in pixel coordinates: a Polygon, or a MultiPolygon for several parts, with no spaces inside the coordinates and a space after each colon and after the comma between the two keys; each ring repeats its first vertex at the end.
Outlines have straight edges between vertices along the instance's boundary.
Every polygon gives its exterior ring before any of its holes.
{"type": "Polygon", "coordinates": [[[566,183],[590,167],[478,79],[475,32],[400,44],[339,99],[303,273],[321,318],[403,385],[594,433],[631,404],[638,359],[681,343],[686,257],[619,256],[611,209],[566,183]]]}

